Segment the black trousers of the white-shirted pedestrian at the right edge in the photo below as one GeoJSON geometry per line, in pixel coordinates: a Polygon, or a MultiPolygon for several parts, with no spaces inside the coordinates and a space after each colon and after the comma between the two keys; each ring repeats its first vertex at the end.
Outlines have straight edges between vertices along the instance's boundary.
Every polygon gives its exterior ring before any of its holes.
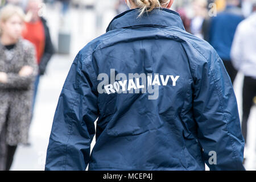
{"type": "Polygon", "coordinates": [[[251,106],[253,106],[253,98],[256,96],[256,79],[245,76],[243,81],[243,116],[242,116],[242,134],[243,138],[247,138],[247,121],[250,115],[251,106]]]}

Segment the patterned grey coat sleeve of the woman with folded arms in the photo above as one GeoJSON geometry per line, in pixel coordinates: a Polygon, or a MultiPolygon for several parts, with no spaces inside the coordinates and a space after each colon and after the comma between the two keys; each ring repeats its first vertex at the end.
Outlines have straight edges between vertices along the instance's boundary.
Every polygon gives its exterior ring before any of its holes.
{"type": "MultiPolygon", "coordinates": [[[[28,46],[28,45],[26,45],[28,46]]],[[[24,65],[28,65],[33,68],[33,73],[29,76],[19,76],[18,73],[6,73],[7,82],[1,83],[0,88],[3,89],[28,89],[32,82],[35,80],[35,76],[38,73],[38,66],[36,64],[35,48],[28,46],[25,50],[24,65]]]]}

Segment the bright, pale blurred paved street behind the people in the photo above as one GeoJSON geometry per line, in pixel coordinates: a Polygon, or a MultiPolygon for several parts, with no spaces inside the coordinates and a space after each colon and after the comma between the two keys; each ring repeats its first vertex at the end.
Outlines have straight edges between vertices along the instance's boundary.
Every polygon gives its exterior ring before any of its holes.
{"type": "MultiPolygon", "coordinates": [[[[55,113],[57,100],[59,98],[61,88],[64,84],[65,77],[71,67],[72,61],[77,52],[85,46],[90,40],[96,38],[105,32],[110,20],[114,17],[114,11],[109,10],[103,16],[103,25],[100,30],[96,26],[96,14],[92,10],[74,9],[69,13],[70,27],[72,27],[71,35],[71,54],[70,55],[55,55],[52,57],[48,65],[47,73],[41,77],[38,97],[35,105],[34,118],[30,129],[31,146],[19,146],[15,154],[12,170],[43,170],[46,159],[46,149],[48,145],[49,134],[51,131],[53,115],[55,113]]],[[[59,6],[55,8],[47,7],[46,17],[48,25],[51,28],[52,39],[57,48],[57,35],[59,31],[59,6]]],[[[238,75],[234,83],[234,89],[237,94],[238,104],[241,110],[241,84],[243,76],[238,75]]],[[[249,121],[249,158],[247,159],[246,168],[255,169],[255,129],[256,129],[256,108],[253,108],[249,121]]],[[[92,142],[92,147],[95,143],[95,137],[92,142]]]]}

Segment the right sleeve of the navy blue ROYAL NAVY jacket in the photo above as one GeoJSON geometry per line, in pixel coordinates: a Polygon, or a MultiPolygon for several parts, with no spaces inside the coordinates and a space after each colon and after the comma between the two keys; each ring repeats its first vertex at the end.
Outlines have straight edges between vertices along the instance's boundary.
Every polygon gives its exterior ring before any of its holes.
{"type": "Polygon", "coordinates": [[[210,170],[245,170],[244,139],[232,82],[216,51],[197,59],[193,115],[210,170]]]}

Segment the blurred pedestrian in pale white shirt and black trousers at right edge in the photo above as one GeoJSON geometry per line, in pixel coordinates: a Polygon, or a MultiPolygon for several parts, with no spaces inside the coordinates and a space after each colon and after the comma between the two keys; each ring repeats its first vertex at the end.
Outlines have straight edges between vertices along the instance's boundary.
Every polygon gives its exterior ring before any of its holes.
{"type": "Polygon", "coordinates": [[[238,25],[231,51],[234,67],[245,75],[242,93],[242,134],[245,142],[247,121],[256,96],[256,1],[253,1],[254,13],[238,25]]]}

